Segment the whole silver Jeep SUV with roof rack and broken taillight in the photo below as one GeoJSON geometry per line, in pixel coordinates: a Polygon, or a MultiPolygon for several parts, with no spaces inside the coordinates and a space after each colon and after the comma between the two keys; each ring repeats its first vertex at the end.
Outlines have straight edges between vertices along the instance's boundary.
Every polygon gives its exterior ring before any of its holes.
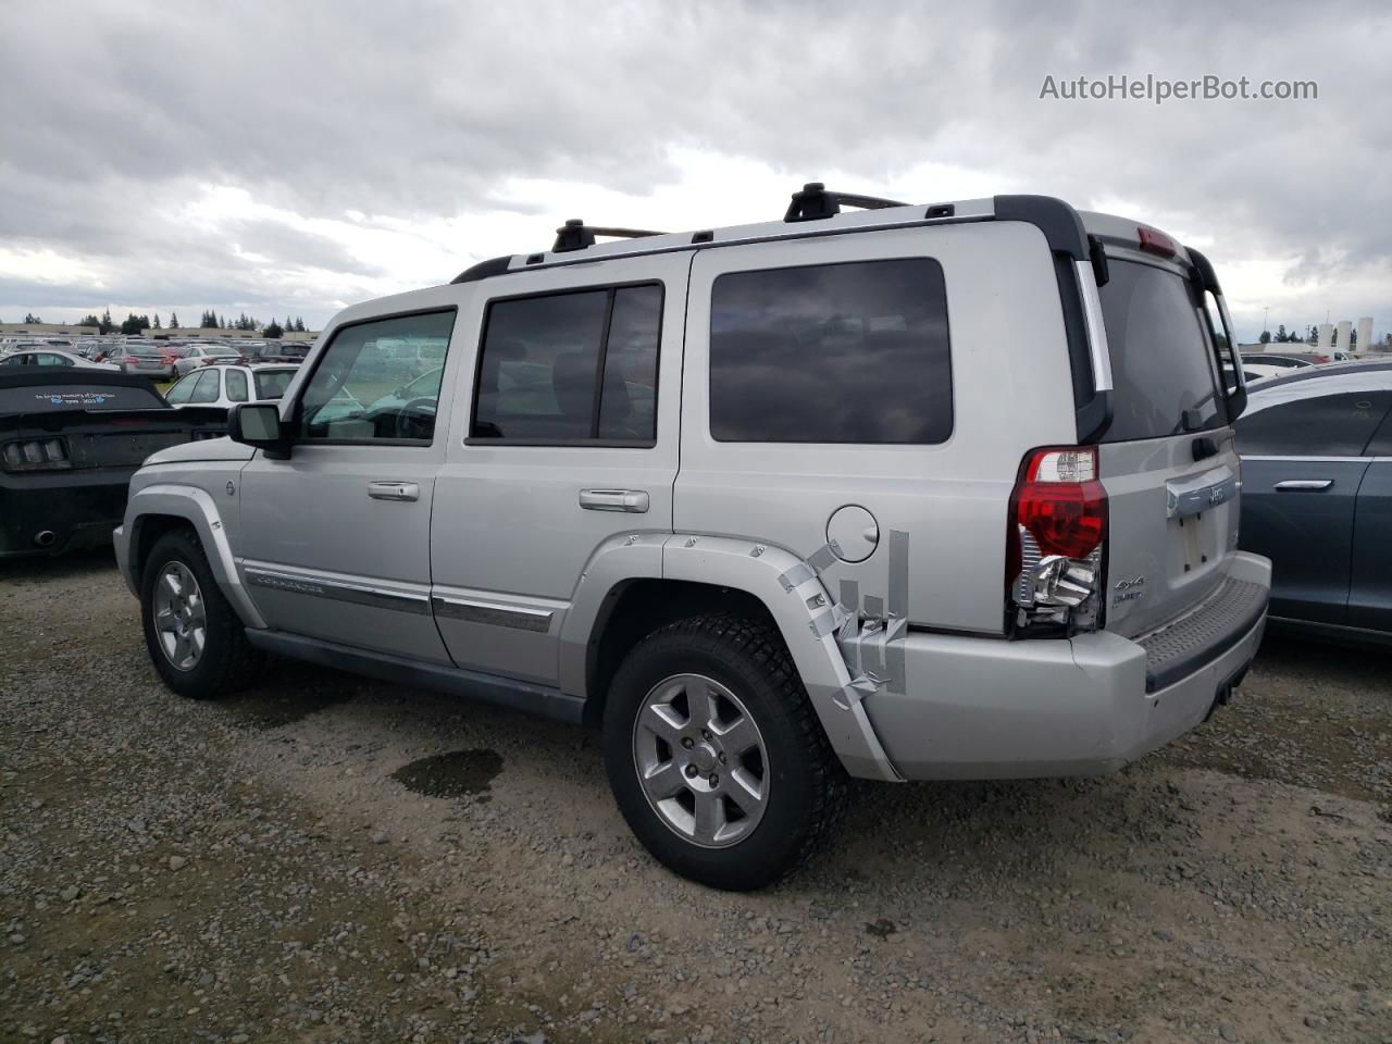
{"type": "Polygon", "coordinates": [[[341,312],[117,551],[177,693],[273,653],[599,727],[653,855],[757,888],[846,774],[1105,773],[1229,697],[1232,345],[1203,255],[1044,196],[571,221],[341,312]]]}

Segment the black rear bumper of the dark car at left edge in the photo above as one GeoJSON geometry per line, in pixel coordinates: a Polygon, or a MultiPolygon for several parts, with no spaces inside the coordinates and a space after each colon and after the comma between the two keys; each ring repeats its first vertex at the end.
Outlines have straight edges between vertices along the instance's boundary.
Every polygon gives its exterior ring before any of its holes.
{"type": "Polygon", "coordinates": [[[111,541],[135,468],[33,472],[0,479],[0,558],[111,541]]]}

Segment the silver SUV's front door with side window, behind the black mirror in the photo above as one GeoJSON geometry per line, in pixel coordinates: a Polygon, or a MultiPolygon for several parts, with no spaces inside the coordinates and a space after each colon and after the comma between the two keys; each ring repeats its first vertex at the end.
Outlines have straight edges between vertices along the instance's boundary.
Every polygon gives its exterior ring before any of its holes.
{"type": "MultiPolygon", "coordinates": [[[[433,294],[444,306],[458,291],[433,294]]],[[[391,387],[438,369],[419,349],[444,355],[455,319],[441,308],[340,326],[281,406],[291,458],[258,452],[244,468],[239,565],[270,626],[450,661],[430,610],[430,514],[462,354],[444,356],[436,400],[391,387]]]]}

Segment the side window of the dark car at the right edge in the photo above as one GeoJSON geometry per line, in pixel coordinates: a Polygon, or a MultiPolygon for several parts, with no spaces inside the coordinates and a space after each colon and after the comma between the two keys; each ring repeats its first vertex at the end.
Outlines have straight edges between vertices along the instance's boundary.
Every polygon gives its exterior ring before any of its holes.
{"type": "Polygon", "coordinates": [[[1253,394],[1237,418],[1237,451],[1253,457],[1359,457],[1386,416],[1392,393],[1325,390],[1321,395],[1318,384],[1300,381],[1253,394]]]}

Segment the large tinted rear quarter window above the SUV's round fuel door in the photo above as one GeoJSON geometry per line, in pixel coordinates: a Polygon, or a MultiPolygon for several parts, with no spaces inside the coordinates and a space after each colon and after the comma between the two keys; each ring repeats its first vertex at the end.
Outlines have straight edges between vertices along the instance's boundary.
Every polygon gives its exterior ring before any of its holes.
{"type": "Polygon", "coordinates": [[[720,276],[710,433],[731,443],[942,443],[952,365],[931,258],[720,276]]]}

